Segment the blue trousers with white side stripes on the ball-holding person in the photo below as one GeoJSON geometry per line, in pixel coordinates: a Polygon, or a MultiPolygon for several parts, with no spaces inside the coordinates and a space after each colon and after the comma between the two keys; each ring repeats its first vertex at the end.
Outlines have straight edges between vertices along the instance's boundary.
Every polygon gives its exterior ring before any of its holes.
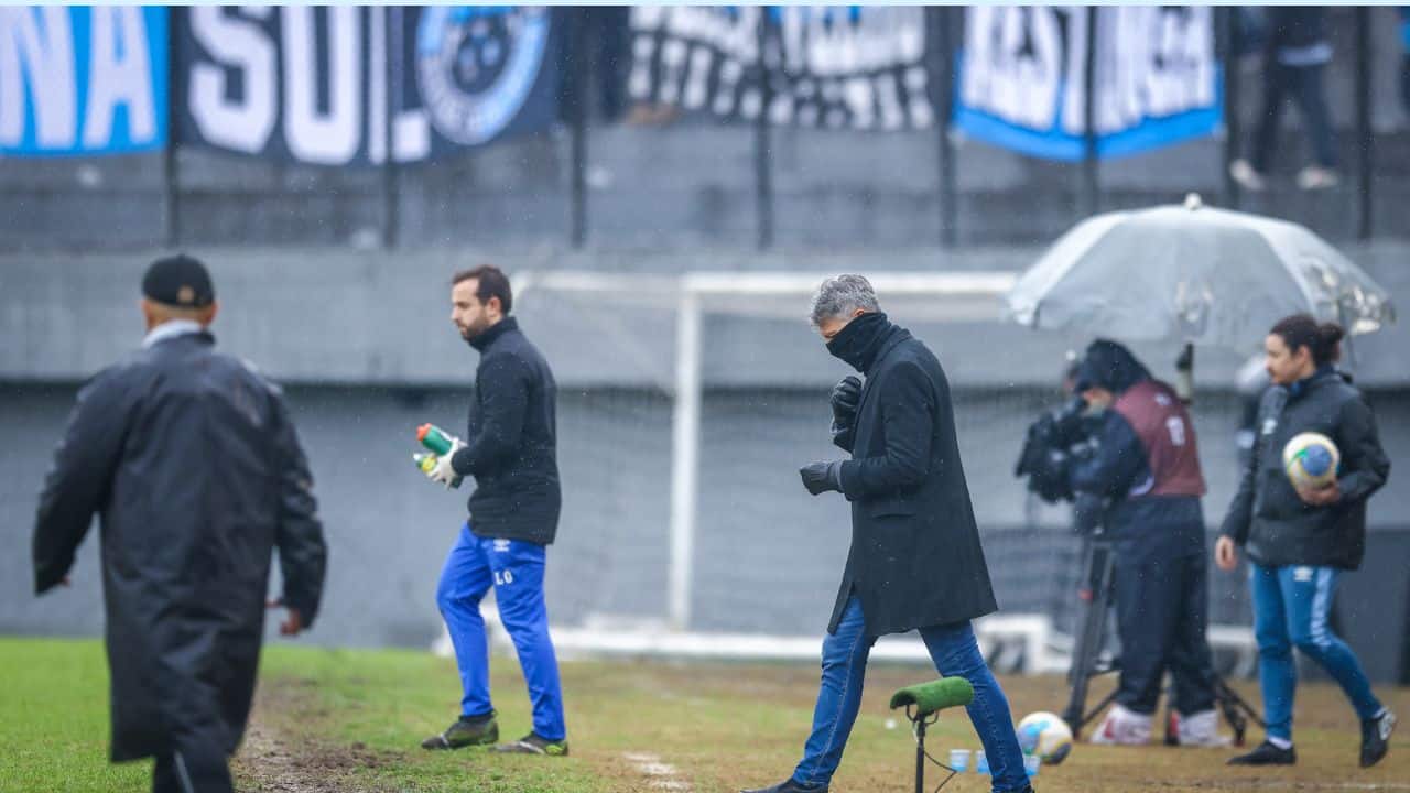
{"type": "Polygon", "coordinates": [[[1371,680],[1361,662],[1327,624],[1338,574],[1334,567],[1249,564],[1258,680],[1263,689],[1268,734],[1275,738],[1293,739],[1293,694],[1297,689],[1294,646],[1341,684],[1356,715],[1372,718],[1380,713],[1380,700],[1371,693],[1371,680]]]}

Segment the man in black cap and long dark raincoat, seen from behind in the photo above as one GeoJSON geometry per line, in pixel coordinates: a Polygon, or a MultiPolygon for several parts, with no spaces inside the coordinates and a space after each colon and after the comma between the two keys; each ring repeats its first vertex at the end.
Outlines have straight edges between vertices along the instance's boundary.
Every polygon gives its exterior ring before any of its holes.
{"type": "Polygon", "coordinates": [[[114,762],[155,756],[157,793],[231,790],[275,547],[312,625],[327,550],[279,388],[214,350],[216,291],[195,258],[142,278],[147,337],[80,391],[34,526],[35,590],[68,584],[102,516],[114,762]]]}

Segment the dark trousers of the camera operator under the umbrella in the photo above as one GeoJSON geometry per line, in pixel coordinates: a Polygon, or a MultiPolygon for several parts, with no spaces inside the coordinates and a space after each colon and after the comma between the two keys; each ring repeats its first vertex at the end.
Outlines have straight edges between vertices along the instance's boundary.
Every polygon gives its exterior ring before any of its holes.
{"type": "Polygon", "coordinates": [[[1114,566],[1121,683],[1117,703],[1152,714],[1160,682],[1175,680],[1175,710],[1184,715],[1214,707],[1214,659],[1208,624],[1207,560],[1203,553],[1134,553],[1117,546],[1114,566]]]}

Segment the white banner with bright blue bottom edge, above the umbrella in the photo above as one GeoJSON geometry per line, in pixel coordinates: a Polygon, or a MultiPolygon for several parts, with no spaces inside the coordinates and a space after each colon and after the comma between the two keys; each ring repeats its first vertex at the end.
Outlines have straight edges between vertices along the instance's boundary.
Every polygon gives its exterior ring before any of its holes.
{"type": "MultiPolygon", "coordinates": [[[[952,126],[1031,157],[1081,159],[1089,10],[966,10],[952,126]]],[[[1222,82],[1208,7],[1096,8],[1097,157],[1124,157],[1211,134],[1222,82]]]]}

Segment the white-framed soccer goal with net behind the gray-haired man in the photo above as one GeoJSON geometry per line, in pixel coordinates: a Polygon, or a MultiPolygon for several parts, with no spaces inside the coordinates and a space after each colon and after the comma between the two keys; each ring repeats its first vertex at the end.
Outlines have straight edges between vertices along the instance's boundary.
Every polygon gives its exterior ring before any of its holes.
{"type": "MultiPolygon", "coordinates": [[[[798,467],[835,459],[828,392],[849,374],[808,326],[825,274],[534,271],[515,312],[558,378],[564,509],[547,597],[560,652],[816,658],[850,509],[798,467]]],[[[986,368],[1012,327],[1010,272],[869,274],[939,356],[1003,611],[977,624],[1000,669],[1066,669],[1080,564],[1066,511],[1012,473],[1060,401],[1060,356],[1008,385],[986,368]]],[[[503,639],[503,636],[501,636],[503,639]]],[[[877,658],[925,659],[914,636],[877,658]]]]}

